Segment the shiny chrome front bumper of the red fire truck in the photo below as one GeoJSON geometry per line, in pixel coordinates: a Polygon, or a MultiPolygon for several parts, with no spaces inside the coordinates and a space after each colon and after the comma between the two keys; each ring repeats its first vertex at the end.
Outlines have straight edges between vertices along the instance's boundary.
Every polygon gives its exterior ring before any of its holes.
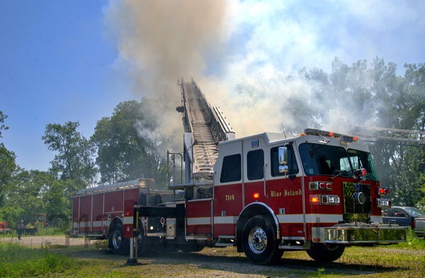
{"type": "Polygon", "coordinates": [[[324,243],[402,243],[406,228],[387,224],[337,224],[329,228],[312,228],[312,240],[324,243]]]}

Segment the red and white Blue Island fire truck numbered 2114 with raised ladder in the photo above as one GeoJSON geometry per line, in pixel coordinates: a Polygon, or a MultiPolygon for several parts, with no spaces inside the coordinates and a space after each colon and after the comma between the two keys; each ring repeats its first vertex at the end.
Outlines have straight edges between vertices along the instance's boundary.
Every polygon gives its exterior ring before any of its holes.
{"type": "MultiPolygon", "coordinates": [[[[213,108],[216,125],[203,115],[217,127],[208,141],[191,103],[194,90],[196,99],[203,95],[194,81],[181,82],[180,110],[191,117],[181,154],[186,182],[172,178],[169,191],[152,190],[154,181],[146,179],[80,190],[72,236],[108,238],[116,254],[131,249],[129,238],[137,239],[132,245],[137,242],[139,254],[236,246],[261,265],[276,262],[285,250],[331,262],[353,245],[406,241],[405,228],[382,224],[389,190],[380,186],[368,147],[356,137],[305,129],[295,137],[266,132],[236,139],[227,127],[220,129],[227,122],[213,108]]],[[[176,156],[168,155],[172,163],[176,156]]]]}

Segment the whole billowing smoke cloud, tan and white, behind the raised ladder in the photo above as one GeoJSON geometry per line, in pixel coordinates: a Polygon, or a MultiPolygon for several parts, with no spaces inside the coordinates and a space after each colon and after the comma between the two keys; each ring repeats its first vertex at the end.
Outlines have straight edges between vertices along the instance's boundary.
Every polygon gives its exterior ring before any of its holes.
{"type": "MultiPolygon", "coordinates": [[[[367,124],[372,118],[370,109],[356,96],[357,88],[332,91],[314,79],[290,76],[294,68],[302,66],[326,64],[325,70],[329,70],[331,59],[343,54],[341,49],[346,45],[332,52],[322,47],[318,33],[327,30],[325,35],[334,40],[335,32],[346,36],[341,41],[349,39],[344,27],[333,24],[334,18],[314,21],[309,13],[300,11],[304,23],[300,24],[279,16],[278,11],[288,13],[294,5],[224,0],[111,1],[106,8],[106,25],[117,42],[117,63],[130,65],[133,93],[171,104],[161,111],[162,122],[157,127],[164,136],[183,132],[181,115],[173,109],[180,105],[176,83],[181,76],[186,81],[193,76],[210,104],[220,106],[237,137],[280,132],[282,127],[294,133],[307,127],[346,133],[349,125],[367,124]],[[271,19],[265,20],[267,17],[271,19]]],[[[367,79],[361,82],[365,88],[370,85],[367,79]]],[[[175,146],[181,146],[181,135],[178,137],[175,146]]]]}

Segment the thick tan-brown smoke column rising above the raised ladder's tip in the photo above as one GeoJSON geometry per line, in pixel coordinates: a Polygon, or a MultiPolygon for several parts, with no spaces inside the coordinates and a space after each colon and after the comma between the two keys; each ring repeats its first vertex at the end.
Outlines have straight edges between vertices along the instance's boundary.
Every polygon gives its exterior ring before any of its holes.
{"type": "Polygon", "coordinates": [[[178,103],[177,79],[201,75],[204,60],[220,54],[227,6],[224,0],[112,1],[106,23],[118,42],[120,62],[132,68],[133,93],[166,95],[178,103]]]}

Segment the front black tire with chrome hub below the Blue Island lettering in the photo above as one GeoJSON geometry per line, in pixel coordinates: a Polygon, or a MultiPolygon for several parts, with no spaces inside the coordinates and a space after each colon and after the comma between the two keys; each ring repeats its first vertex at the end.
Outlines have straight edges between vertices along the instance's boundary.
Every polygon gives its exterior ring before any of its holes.
{"type": "Polygon", "coordinates": [[[257,265],[271,265],[280,259],[276,226],[264,216],[249,219],[242,231],[242,248],[246,257],[257,265]]]}

